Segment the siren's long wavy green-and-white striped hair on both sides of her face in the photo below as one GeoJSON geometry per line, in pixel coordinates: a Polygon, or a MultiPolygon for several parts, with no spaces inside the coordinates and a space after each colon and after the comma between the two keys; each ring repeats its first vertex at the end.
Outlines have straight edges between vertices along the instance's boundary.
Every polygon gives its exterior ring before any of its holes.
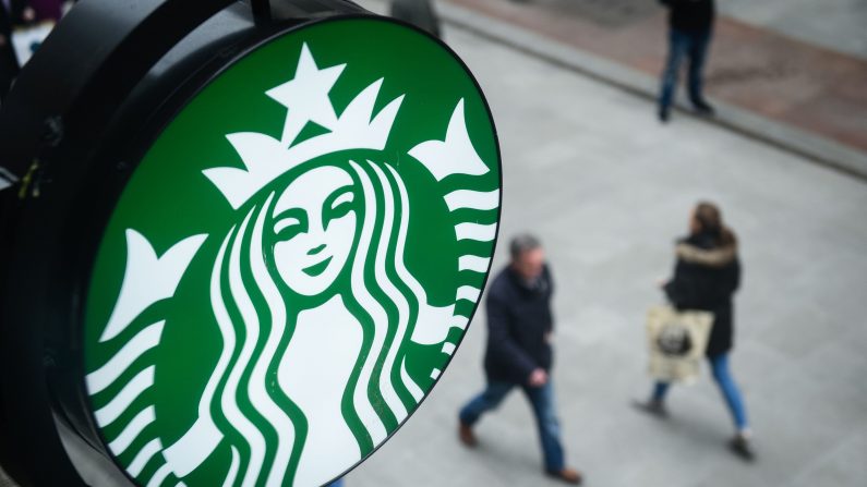
{"type": "MultiPolygon", "coordinates": [[[[400,175],[392,166],[370,160],[348,161],[342,169],[360,190],[362,219],[356,249],[344,269],[349,279],[338,278],[344,283],[328,293],[342,293],[363,328],[342,413],[364,456],[423,395],[407,373],[405,357],[426,296],[404,263],[410,215],[400,175]]],[[[200,413],[209,409],[217,415],[215,423],[231,445],[227,485],[239,475],[246,484],[265,477],[265,472],[268,485],[289,483],[288,472],[305,441],[305,428],[300,427],[304,412],[292,402],[291,391],[273,387],[269,379],[285,358],[291,361],[285,354],[301,311],[281,285],[274,259],[266,258],[265,229],[274,198],[272,192],[229,230],[212,271],[210,301],[222,351],[200,413]],[[263,424],[268,426],[257,426],[263,424]]]]}

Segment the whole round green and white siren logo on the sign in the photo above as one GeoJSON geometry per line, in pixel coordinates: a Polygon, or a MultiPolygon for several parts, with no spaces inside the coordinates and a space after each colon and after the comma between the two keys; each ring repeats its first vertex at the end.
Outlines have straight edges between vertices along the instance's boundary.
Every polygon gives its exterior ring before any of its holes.
{"type": "Polygon", "coordinates": [[[484,285],[499,160],[482,94],[414,29],[342,19],[212,80],[125,186],[85,383],[141,485],[322,485],[430,392],[484,285]]]}

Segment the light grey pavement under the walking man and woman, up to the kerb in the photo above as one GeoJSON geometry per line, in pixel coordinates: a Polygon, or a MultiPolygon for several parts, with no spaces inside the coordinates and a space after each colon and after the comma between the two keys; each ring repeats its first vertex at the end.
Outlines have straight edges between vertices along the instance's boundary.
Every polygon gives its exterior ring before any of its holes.
{"type": "MultiPolygon", "coordinates": [[[[867,483],[867,185],[693,118],[671,126],[647,99],[449,28],[497,122],[507,239],[541,234],[558,282],[555,383],[569,462],[588,486],[855,487],[867,483]],[[643,314],[699,198],[742,240],[733,370],[758,462],[724,442],[731,419],[708,374],[659,422],[628,401],[649,392],[643,314]]],[[[456,438],[458,407],[483,385],[484,315],[420,411],[348,487],[554,486],[541,475],[529,409],[513,394],[456,438]]]]}

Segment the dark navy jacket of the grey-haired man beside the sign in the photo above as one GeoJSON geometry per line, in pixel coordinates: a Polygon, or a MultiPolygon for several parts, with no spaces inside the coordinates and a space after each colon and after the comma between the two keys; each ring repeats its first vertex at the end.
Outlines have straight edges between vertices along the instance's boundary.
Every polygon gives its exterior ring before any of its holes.
{"type": "Polygon", "coordinates": [[[552,352],[546,336],[554,325],[553,293],[554,281],[547,266],[533,289],[510,267],[494,279],[486,300],[484,369],[489,381],[527,385],[537,367],[551,369],[552,352]]]}

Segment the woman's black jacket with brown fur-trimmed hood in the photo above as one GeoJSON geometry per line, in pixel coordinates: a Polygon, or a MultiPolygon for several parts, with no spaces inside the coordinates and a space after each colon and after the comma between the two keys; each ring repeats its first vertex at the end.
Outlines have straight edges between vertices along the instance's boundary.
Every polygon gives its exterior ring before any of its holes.
{"type": "Polygon", "coordinates": [[[665,294],[678,309],[713,313],[713,328],[706,354],[723,354],[732,349],[732,295],[740,284],[740,263],[735,249],[720,248],[709,235],[698,234],[681,241],[677,251],[674,278],[665,284],[665,294]],[[707,256],[711,256],[710,259],[705,258],[707,256]]]}

